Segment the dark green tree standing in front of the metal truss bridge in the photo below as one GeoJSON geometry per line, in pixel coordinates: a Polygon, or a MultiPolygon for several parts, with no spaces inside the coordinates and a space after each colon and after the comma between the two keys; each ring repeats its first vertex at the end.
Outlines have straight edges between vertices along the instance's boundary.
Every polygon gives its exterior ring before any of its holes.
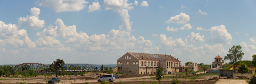
{"type": "Polygon", "coordinates": [[[64,64],[65,62],[63,61],[63,59],[56,59],[56,61],[53,61],[53,63],[50,65],[50,69],[51,71],[56,73],[56,77],[60,70],[64,70],[64,64]]]}

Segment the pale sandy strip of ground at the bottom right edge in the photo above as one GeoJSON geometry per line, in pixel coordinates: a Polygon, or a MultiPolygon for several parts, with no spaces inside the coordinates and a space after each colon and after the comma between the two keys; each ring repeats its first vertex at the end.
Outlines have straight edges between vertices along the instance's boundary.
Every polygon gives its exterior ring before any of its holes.
{"type": "Polygon", "coordinates": [[[216,84],[248,84],[242,79],[219,79],[216,84]]]}

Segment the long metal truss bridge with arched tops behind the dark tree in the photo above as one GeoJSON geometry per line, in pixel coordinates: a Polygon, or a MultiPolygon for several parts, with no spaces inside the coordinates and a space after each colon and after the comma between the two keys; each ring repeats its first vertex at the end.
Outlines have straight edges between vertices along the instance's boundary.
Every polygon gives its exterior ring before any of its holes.
{"type": "MultiPolygon", "coordinates": [[[[67,72],[101,72],[98,66],[87,63],[67,63],[64,64],[64,70],[67,72]]],[[[33,69],[39,73],[51,73],[49,65],[42,63],[21,63],[14,67],[15,71],[33,69]]]]}

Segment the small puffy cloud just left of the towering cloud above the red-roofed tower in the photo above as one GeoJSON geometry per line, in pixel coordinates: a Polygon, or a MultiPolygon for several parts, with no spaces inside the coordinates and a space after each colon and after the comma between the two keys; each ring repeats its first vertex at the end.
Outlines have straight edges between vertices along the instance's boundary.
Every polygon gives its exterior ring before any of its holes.
{"type": "Polygon", "coordinates": [[[188,35],[188,38],[191,42],[201,42],[204,41],[204,35],[200,36],[200,33],[195,34],[194,32],[191,35],[188,35]]]}

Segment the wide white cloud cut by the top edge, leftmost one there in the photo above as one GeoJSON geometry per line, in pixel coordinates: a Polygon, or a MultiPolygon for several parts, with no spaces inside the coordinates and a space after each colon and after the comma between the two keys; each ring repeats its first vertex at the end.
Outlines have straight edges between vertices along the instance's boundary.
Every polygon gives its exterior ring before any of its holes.
{"type": "Polygon", "coordinates": [[[89,3],[85,0],[43,0],[39,3],[39,6],[50,7],[55,12],[79,12],[84,9],[85,3],[89,3]]]}

